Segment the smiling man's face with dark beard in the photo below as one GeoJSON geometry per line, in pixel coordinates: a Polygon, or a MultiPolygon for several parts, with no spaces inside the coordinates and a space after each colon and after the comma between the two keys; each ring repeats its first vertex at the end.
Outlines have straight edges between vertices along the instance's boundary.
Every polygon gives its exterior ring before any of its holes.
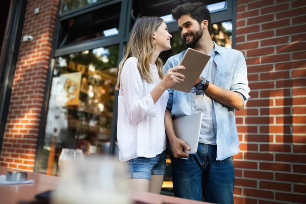
{"type": "Polygon", "coordinates": [[[203,35],[203,29],[199,23],[190,15],[182,15],[178,20],[181,37],[186,42],[187,47],[194,47],[203,35]]]}

